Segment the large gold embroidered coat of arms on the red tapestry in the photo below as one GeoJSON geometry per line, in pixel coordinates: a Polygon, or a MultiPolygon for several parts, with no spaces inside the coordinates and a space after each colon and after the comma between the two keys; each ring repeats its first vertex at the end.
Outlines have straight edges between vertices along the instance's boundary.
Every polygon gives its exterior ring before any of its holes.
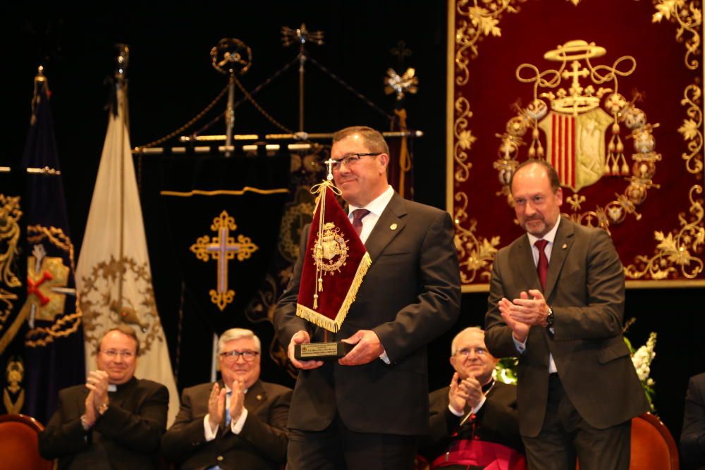
{"type": "Polygon", "coordinates": [[[508,120],[505,133],[498,135],[500,158],[494,168],[503,183],[498,194],[505,195],[509,204],[513,201],[508,184],[523,145],[528,147],[528,159],[550,161],[560,185],[573,192],[604,177],[622,177],[628,183],[623,194],[615,194],[616,199],[593,211],[578,212],[580,204],[586,202],[584,196],[566,197],[575,211],[569,214],[573,221],[599,226],[609,233],[610,225],[623,222],[629,214],[641,218],[637,206],[646,199],[647,190],[658,188],[653,178],[661,154],[656,152],[652,133],[658,124],[648,123],[646,113],[635,106],[638,96],[628,101],[617,91],[619,78],[632,75],[637,61],[632,56],[621,56],[611,66],[591,62],[606,54],[606,49],[594,42],[568,41],[544,54],[546,60],[560,63],[558,68],[539,70],[531,63],[517,67],[517,80],[533,84],[534,97],[508,120]],[[564,80],[569,85],[562,85],[564,80]],[[630,130],[627,138],[635,150],[631,163],[625,156],[621,126],[630,130]],[[529,144],[524,140],[527,134],[529,144]]]}

